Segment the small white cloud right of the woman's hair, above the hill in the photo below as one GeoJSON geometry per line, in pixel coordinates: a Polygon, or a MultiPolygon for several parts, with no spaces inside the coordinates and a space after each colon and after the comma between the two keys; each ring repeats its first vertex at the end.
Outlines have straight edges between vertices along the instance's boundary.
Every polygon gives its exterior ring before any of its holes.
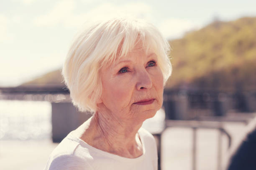
{"type": "Polygon", "coordinates": [[[177,19],[177,18],[169,18],[163,20],[159,24],[159,30],[162,32],[164,37],[168,39],[179,38],[184,35],[184,32],[189,30],[198,29],[201,25],[198,23],[194,23],[190,20],[177,19]]]}

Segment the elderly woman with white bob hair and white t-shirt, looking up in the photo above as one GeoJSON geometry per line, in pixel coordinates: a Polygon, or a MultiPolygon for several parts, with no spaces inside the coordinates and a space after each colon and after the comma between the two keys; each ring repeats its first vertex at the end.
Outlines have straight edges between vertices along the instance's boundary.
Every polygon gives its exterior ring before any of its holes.
{"type": "Polygon", "coordinates": [[[84,29],[63,76],[73,104],[93,115],[61,141],[45,170],[156,170],[156,142],[141,125],[162,106],[168,50],[142,20],[113,18],[84,29]]]}

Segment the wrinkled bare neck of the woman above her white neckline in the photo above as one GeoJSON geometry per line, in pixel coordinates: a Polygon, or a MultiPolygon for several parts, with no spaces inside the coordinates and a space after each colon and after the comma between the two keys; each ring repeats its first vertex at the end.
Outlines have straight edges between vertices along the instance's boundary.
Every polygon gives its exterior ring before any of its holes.
{"type": "Polygon", "coordinates": [[[138,130],[143,122],[123,120],[108,112],[95,112],[81,139],[100,150],[126,158],[143,153],[138,130]]]}

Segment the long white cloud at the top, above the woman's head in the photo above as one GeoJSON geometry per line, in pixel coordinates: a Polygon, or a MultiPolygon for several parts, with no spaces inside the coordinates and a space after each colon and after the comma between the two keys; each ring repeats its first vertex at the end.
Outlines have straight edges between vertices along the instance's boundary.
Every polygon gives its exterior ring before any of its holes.
{"type": "Polygon", "coordinates": [[[128,3],[125,5],[113,5],[111,3],[101,4],[87,13],[75,14],[76,3],[65,0],[46,13],[36,18],[37,26],[53,26],[63,24],[66,27],[78,27],[86,20],[97,20],[104,17],[133,15],[138,18],[150,19],[151,7],[144,3],[128,3]]]}

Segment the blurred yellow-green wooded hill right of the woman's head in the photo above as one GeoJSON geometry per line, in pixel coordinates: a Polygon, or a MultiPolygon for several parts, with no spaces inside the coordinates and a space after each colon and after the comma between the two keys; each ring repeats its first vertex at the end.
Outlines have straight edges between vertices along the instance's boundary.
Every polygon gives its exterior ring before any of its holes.
{"type": "Polygon", "coordinates": [[[215,21],[170,44],[167,88],[256,90],[256,18],[215,21]]]}

